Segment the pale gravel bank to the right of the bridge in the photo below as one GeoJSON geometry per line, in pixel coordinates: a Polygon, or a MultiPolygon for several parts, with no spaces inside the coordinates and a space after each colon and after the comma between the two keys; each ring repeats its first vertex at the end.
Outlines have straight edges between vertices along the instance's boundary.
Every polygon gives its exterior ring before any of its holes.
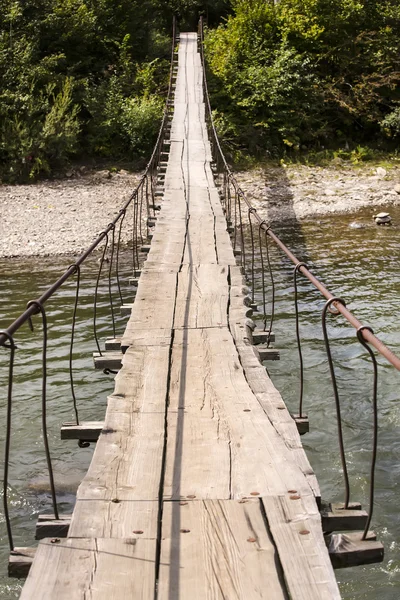
{"type": "Polygon", "coordinates": [[[269,221],[356,212],[400,204],[400,166],[307,167],[288,165],[240,172],[237,179],[269,221]]]}

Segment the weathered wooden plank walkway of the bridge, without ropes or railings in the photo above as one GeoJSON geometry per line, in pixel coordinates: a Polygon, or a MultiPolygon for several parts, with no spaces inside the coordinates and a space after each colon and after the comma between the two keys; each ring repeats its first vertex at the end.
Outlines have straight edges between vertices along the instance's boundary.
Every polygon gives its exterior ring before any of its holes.
{"type": "Polygon", "coordinates": [[[251,346],[182,34],[165,195],[68,538],[21,598],[340,598],[318,484],[251,346]]]}

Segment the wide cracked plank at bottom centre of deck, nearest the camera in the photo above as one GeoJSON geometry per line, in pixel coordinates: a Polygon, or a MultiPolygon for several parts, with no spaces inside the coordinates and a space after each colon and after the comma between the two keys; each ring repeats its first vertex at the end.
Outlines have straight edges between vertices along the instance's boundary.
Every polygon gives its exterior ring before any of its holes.
{"type": "Polygon", "coordinates": [[[164,502],[159,600],[286,600],[259,501],[164,502]]]}

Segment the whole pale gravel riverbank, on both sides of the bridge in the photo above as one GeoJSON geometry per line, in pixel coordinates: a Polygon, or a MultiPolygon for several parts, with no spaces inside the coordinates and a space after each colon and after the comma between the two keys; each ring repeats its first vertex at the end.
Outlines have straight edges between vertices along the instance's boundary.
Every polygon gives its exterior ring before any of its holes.
{"type": "MultiPolygon", "coordinates": [[[[0,186],[0,257],[82,252],[118,213],[140,175],[81,168],[65,179],[0,186]]],[[[376,208],[390,212],[400,204],[397,165],[267,166],[239,172],[237,178],[271,222],[365,206],[371,206],[371,213],[376,208]]]]}

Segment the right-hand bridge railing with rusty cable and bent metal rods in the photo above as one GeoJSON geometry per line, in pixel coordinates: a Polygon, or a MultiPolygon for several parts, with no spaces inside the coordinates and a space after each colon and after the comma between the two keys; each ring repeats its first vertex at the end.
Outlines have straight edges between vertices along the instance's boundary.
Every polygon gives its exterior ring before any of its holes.
{"type": "Polygon", "coordinates": [[[377,402],[377,384],[378,384],[378,365],[375,358],[374,348],[380,355],[389,361],[398,371],[400,371],[400,358],[396,356],[373,332],[372,328],[363,325],[359,319],[346,307],[344,299],[335,296],[327,287],[310,271],[308,266],[300,261],[294,253],[282,242],[278,235],[272,230],[271,225],[260,215],[255,207],[252,206],[250,200],[241,189],[237,179],[235,178],[221,147],[218,138],[216,126],[213,120],[212,107],[207,83],[207,64],[204,52],[204,20],[199,21],[199,50],[203,64],[203,90],[205,98],[206,121],[209,132],[211,151],[214,161],[214,176],[216,183],[220,189],[221,202],[225,211],[228,230],[232,233],[232,242],[235,249],[235,254],[240,256],[240,261],[246,274],[247,280],[251,284],[252,302],[254,303],[255,294],[255,262],[256,262],[256,246],[258,246],[257,254],[261,261],[261,278],[262,278],[262,296],[263,296],[263,321],[264,331],[267,332],[267,347],[271,340],[272,325],[275,314],[275,283],[271,266],[269,242],[272,241],[280,248],[284,255],[293,263],[293,279],[294,279],[294,305],[296,317],[296,338],[299,352],[300,364],[300,390],[299,390],[299,418],[304,416],[303,413],[303,387],[304,387],[304,366],[301,349],[301,338],[299,331],[299,311],[298,311],[298,276],[302,274],[308,279],[311,284],[319,290],[322,296],[326,299],[322,311],[322,331],[325,342],[327,360],[329,363],[330,377],[333,387],[333,395],[335,400],[337,428],[339,437],[339,450],[341,464],[344,477],[345,500],[344,508],[347,509],[350,505],[350,482],[347,469],[346,454],[343,440],[343,426],[341,416],[341,403],[336,381],[336,374],[332,354],[330,350],[330,342],[327,331],[327,315],[328,313],[334,316],[341,314],[352,327],[356,330],[358,342],[368,352],[373,366],[373,440],[372,440],[372,459],[370,470],[370,493],[369,493],[369,515],[362,536],[363,540],[367,539],[369,526],[372,519],[373,504],[374,504],[374,480],[375,480],[375,465],[378,447],[378,402],[377,402]],[[267,317],[267,290],[266,276],[270,278],[271,290],[271,309],[269,318],[267,317]],[[267,326],[268,325],[268,326],[267,326]]]}

